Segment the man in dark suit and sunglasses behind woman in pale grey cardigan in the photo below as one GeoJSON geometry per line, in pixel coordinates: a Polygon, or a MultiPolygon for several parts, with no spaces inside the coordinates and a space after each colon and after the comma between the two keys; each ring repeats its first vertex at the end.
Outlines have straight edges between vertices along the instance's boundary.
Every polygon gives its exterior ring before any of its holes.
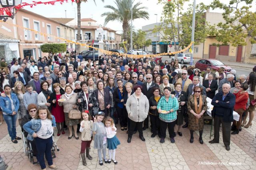
{"type": "MultiPolygon", "coordinates": [[[[153,82],[153,76],[152,74],[147,74],[146,75],[146,83],[143,83],[142,85],[142,93],[144,95],[147,96],[147,98],[149,99],[151,96],[153,96],[153,87],[158,87],[159,85],[153,82]]],[[[147,118],[144,120],[144,127],[143,130],[146,130],[148,128],[148,116],[147,118]]]]}

